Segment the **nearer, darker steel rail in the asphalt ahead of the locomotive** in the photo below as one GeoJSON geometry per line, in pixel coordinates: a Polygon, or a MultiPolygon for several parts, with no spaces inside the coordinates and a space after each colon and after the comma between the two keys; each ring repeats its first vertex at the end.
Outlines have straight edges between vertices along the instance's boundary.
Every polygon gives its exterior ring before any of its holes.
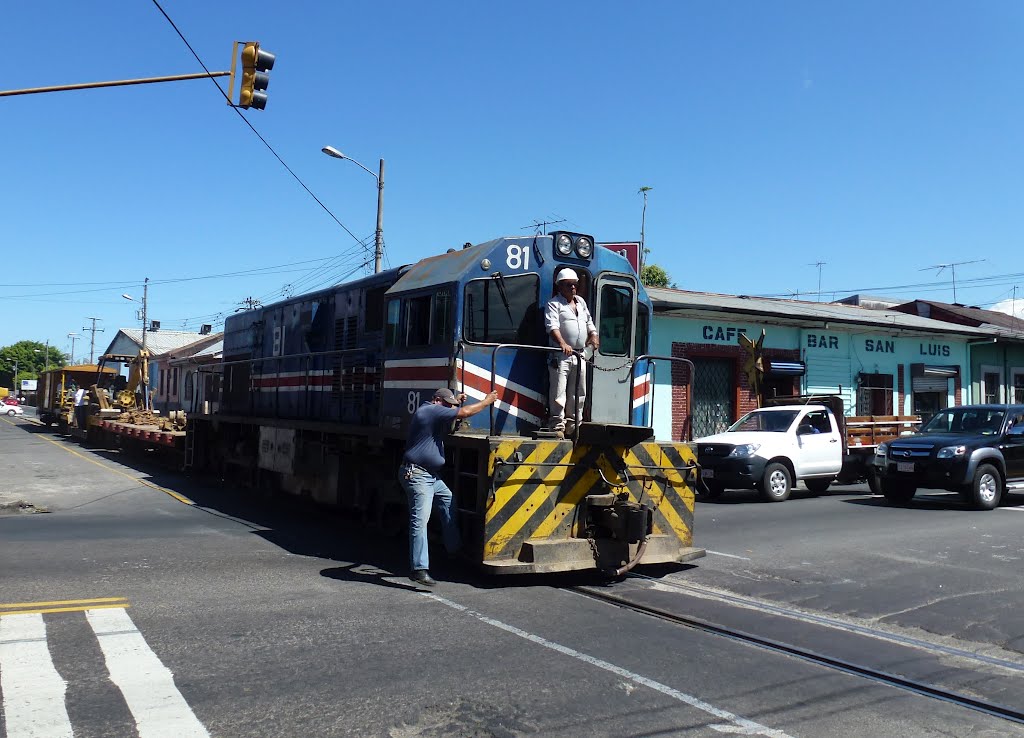
{"type": "Polygon", "coordinates": [[[586,587],[571,587],[568,588],[570,592],[574,592],[583,597],[590,598],[592,600],[597,600],[599,602],[605,602],[616,607],[621,607],[625,610],[632,610],[643,615],[648,615],[650,617],[655,617],[659,620],[666,620],[668,622],[681,625],[683,627],[688,627],[693,631],[700,631],[702,633],[709,633],[715,636],[721,636],[732,641],[739,643],[744,643],[748,645],[756,646],[768,651],[773,651],[775,653],[781,653],[786,656],[793,656],[794,658],[799,658],[803,661],[817,664],[819,666],[824,666],[826,668],[831,668],[837,671],[842,671],[855,677],[861,677],[872,682],[878,682],[880,684],[885,684],[889,687],[895,687],[896,689],[901,689],[906,692],[912,692],[914,694],[931,697],[932,699],[937,699],[949,704],[954,704],[959,707],[965,707],[976,712],[982,712],[984,714],[992,715],[994,718],[1000,718],[1002,720],[1010,721],[1012,723],[1017,723],[1024,725],[1024,710],[1017,709],[1014,707],[1009,707],[1006,705],[996,704],[994,702],[987,702],[983,699],[977,699],[975,697],[969,697],[967,695],[957,694],[950,690],[942,689],[940,687],[935,687],[934,685],[924,684],[922,682],[915,682],[911,679],[904,679],[903,677],[898,677],[887,671],[882,671],[879,669],[871,668],[869,666],[862,666],[852,661],[846,661],[841,658],[835,658],[833,656],[826,656],[825,654],[817,653],[809,649],[799,648],[797,646],[792,646],[786,643],[781,643],[769,638],[763,638],[761,636],[755,636],[754,634],[745,633],[737,628],[725,627],[722,625],[716,625],[715,623],[708,622],[697,617],[692,617],[690,615],[680,615],[679,613],[670,612],[668,610],[662,609],[659,607],[653,607],[651,605],[641,605],[636,602],[631,602],[626,598],[618,597],[616,595],[611,595],[605,592],[594,591],[586,587]]]}

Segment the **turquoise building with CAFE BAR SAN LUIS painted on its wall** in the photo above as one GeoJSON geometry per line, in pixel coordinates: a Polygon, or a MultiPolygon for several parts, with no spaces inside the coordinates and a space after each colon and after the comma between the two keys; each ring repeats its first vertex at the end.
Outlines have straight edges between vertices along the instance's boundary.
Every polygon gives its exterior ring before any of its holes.
{"type": "Polygon", "coordinates": [[[1024,321],[1005,313],[920,300],[648,293],[651,353],[684,356],[695,370],[690,378],[684,364],[658,367],[658,438],[719,433],[757,407],[744,361],[762,336],[762,397],[839,394],[847,415],[924,421],[951,405],[1024,402],[1024,321]]]}

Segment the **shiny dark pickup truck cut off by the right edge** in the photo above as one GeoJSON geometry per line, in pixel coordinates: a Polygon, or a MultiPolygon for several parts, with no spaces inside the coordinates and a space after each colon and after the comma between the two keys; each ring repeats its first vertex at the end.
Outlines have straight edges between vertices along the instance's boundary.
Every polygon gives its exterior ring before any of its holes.
{"type": "Polygon", "coordinates": [[[928,487],[992,510],[1006,492],[1024,491],[1024,405],[948,407],[919,432],[880,444],[873,464],[891,503],[928,487]]]}

